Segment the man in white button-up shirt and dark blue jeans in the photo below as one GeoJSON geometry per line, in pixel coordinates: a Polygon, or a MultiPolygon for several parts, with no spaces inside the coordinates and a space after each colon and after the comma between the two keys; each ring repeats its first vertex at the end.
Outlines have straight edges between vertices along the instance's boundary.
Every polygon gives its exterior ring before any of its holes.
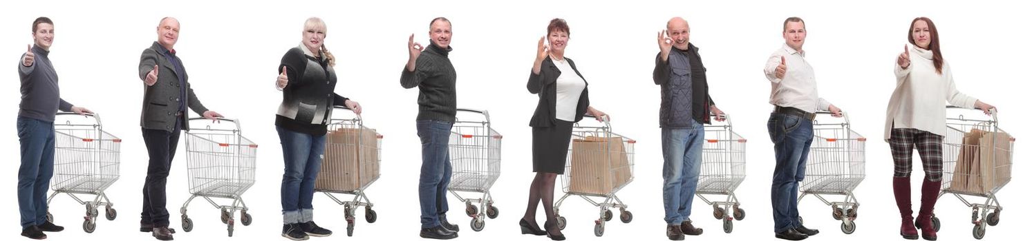
{"type": "Polygon", "coordinates": [[[806,158],[813,142],[813,117],[817,110],[842,116],[838,107],[817,96],[813,68],[806,62],[803,42],[806,24],[793,16],[784,21],[784,45],[767,59],[764,73],[771,81],[770,103],[774,111],[767,130],[774,142],[777,164],[771,184],[775,237],[803,240],[819,233],[799,221],[799,182],[806,177],[806,158]]]}

